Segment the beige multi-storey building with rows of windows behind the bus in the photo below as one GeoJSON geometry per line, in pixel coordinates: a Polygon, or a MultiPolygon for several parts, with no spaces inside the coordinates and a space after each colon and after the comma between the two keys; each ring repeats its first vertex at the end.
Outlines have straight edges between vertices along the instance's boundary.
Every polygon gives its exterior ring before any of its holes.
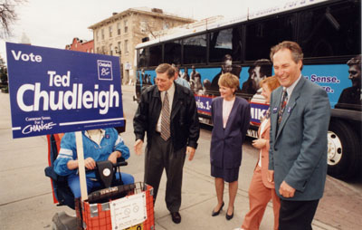
{"type": "Polygon", "coordinates": [[[122,83],[135,81],[135,46],[142,38],[195,20],[174,14],[164,14],[161,9],[140,7],[113,13],[100,23],[90,25],[93,30],[95,53],[120,56],[122,83]]]}

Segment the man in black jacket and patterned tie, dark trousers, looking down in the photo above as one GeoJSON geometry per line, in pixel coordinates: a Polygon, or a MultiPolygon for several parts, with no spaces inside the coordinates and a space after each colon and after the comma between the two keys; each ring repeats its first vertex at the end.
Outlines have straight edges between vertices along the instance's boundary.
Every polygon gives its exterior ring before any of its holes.
{"type": "Polygon", "coordinates": [[[156,85],[142,95],[133,119],[135,152],[141,154],[147,132],[145,182],[154,188],[156,200],[159,181],[167,174],[166,204],[172,220],[181,222],[181,186],[186,153],[194,158],[199,138],[199,122],[194,93],[174,82],[175,69],[163,63],[156,69],[156,85]]]}

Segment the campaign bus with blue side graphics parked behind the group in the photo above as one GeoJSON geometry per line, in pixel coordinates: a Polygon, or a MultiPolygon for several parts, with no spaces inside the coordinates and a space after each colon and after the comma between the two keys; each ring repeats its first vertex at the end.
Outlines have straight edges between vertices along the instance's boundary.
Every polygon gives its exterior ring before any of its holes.
{"type": "MultiPolygon", "coordinates": [[[[236,95],[250,101],[255,137],[268,109],[259,82],[273,74],[271,47],[282,41],[300,44],[303,77],[329,95],[329,175],[353,177],[361,165],[361,1],[295,0],[238,18],[184,25],[136,46],[135,99],[155,83],[155,68],[167,62],[195,93],[200,122],[211,124],[211,101],[219,96],[217,81],[224,72],[240,79],[236,95]]],[[[172,29],[171,29],[172,30],[172,29]]],[[[312,102],[312,101],[310,101],[312,102]]],[[[327,118],[326,118],[327,119],[327,118]]]]}

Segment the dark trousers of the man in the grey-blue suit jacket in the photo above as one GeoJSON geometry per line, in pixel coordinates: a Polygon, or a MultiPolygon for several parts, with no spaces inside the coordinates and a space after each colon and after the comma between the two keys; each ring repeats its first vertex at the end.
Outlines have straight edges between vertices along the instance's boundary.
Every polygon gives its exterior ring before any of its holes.
{"type": "Polygon", "coordinates": [[[311,230],[311,221],[316,213],[319,199],[292,201],[281,199],[279,230],[311,230]]]}

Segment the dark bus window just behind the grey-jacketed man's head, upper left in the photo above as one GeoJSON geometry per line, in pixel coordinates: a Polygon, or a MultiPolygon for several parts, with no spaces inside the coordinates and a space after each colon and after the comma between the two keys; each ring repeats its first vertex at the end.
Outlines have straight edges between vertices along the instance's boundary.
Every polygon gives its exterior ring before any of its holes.
{"type": "Polygon", "coordinates": [[[282,41],[293,41],[293,14],[246,25],[245,59],[255,61],[269,58],[271,47],[282,41]]]}

